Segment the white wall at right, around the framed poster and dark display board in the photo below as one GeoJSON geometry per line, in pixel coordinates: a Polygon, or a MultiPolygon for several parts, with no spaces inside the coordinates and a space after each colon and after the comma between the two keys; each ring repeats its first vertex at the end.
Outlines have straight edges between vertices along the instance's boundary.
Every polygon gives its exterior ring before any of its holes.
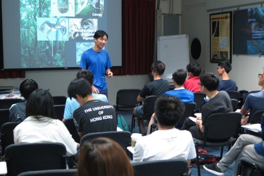
{"type": "MultiPolygon", "coordinates": [[[[219,13],[219,11],[207,12],[209,9],[220,7],[236,6],[262,0],[182,0],[182,33],[189,34],[189,38],[198,37],[201,40],[202,55],[198,59],[206,72],[217,74],[217,64],[210,63],[210,31],[209,16],[210,13],[219,13]],[[190,37],[191,36],[191,37],[190,37]]],[[[252,6],[250,6],[252,7],[252,6]]],[[[256,5],[254,7],[257,7],[256,5]]],[[[240,9],[248,8],[241,7],[240,9]]],[[[223,10],[230,11],[236,9],[223,10]]],[[[191,39],[190,39],[191,40],[191,39]]],[[[190,43],[191,44],[191,43],[190,43]]],[[[192,61],[192,59],[191,59],[192,61]]],[[[264,56],[232,55],[232,70],[230,77],[236,81],[239,90],[259,90],[258,73],[263,70],[264,56]]]]}

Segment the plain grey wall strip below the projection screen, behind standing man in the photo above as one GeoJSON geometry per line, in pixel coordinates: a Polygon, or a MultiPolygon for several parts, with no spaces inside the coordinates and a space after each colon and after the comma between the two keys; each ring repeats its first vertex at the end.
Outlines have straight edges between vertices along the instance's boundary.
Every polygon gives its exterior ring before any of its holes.
{"type": "MultiPolygon", "coordinates": [[[[39,88],[50,89],[51,95],[67,96],[67,87],[76,77],[78,70],[44,70],[26,71],[25,78],[0,79],[0,86],[14,86],[19,88],[24,79],[35,80],[39,88]]],[[[113,76],[107,78],[109,103],[114,105],[116,92],[121,88],[143,88],[149,81],[148,75],[113,76]]]]}

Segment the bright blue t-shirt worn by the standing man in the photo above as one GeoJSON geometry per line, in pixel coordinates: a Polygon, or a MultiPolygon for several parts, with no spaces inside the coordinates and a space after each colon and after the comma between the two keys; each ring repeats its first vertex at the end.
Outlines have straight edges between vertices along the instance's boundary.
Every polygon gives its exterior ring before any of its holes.
{"type": "Polygon", "coordinates": [[[94,75],[93,85],[98,90],[107,89],[105,74],[111,67],[108,52],[102,49],[101,52],[94,51],[92,48],[83,52],[81,56],[80,68],[88,69],[94,75]]]}

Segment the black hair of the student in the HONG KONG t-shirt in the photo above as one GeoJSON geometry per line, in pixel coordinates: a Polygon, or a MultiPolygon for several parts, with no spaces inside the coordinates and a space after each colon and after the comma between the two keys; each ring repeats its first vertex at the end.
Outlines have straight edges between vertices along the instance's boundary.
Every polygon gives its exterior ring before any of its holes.
{"type": "Polygon", "coordinates": [[[80,95],[84,98],[92,94],[91,85],[84,78],[73,79],[68,86],[67,92],[70,99],[72,97],[76,99],[76,95],[80,95]]]}

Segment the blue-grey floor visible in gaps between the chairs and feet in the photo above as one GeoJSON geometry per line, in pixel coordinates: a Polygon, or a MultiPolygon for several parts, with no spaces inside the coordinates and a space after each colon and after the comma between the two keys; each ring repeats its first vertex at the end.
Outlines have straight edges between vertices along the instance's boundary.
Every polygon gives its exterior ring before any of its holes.
{"type": "MultiPolygon", "coordinates": [[[[124,116],[127,124],[129,126],[131,126],[132,112],[117,112],[117,113],[118,114],[122,114],[124,116]]],[[[135,129],[134,129],[133,132],[137,132],[137,131],[138,131],[138,128],[137,128],[137,125],[135,125],[135,129]]],[[[223,155],[227,153],[227,149],[228,149],[228,147],[225,147],[224,148],[223,155]]],[[[220,148],[207,147],[207,148],[205,148],[205,150],[209,154],[213,154],[213,155],[216,155],[216,156],[220,156],[220,148]]],[[[232,176],[233,168],[234,168],[234,163],[228,167],[228,169],[225,172],[225,176],[232,176]]],[[[192,176],[198,176],[198,171],[197,171],[197,168],[195,166],[191,168],[191,171],[192,171],[192,176]]],[[[205,171],[203,169],[203,167],[200,167],[200,172],[201,172],[201,176],[212,176],[212,174],[209,173],[209,172],[207,172],[207,171],[205,171]]]]}

